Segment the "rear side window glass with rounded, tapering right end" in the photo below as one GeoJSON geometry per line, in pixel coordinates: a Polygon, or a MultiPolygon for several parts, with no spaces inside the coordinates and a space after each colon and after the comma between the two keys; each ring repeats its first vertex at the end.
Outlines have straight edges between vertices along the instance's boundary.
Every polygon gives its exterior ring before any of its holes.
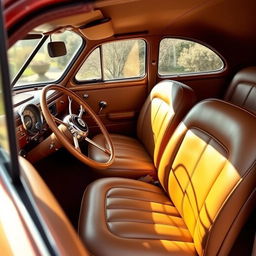
{"type": "Polygon", "coordinates": [[[199,43],[173,38],[160,42],[158,73],[161,76],[214,72],[223,67],[221,58],[199,43]]]}

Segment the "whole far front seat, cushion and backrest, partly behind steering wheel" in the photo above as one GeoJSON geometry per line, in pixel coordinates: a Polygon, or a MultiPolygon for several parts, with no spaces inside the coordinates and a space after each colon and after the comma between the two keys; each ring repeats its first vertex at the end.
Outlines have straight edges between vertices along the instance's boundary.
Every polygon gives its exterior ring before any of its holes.
{"type": "MultiPolygon", "coordinates": [[[[101,173],[134,178],[152,175],[171,134],[194,103],[195,94],[190,87],[171,80],[158,83],[141,109],[137,124],[138,140],[110,134],[115,161],[101,173]]],[[[93,140],[105,146],[102,135],[93,140]]],[[[89,156],[100,162],[106,159],[106,154],[92,145],[89,146],[89,156]]]]}

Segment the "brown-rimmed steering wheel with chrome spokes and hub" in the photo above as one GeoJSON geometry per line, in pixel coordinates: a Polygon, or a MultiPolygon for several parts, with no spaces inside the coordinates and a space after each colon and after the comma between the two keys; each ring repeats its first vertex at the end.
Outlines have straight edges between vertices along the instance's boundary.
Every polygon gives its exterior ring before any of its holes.
{"type": "Polygon", "coordinates": [[[41,104],[41,109],[47,124],[52,129],[57,139],[72,155],[74,155],[81,162],[97,169],[106,169],[113,163],[114,155],[115,155],[114,147],[107,129],[101,122],[100,118],[89,107],[89,105],[85,103],[77,94],[59,85],[48,85],[44,87],[42,90],[40,104],[41,104]],[[68,96],[69,114],[63,120],[56,118],[50,113],[50,110],[47,105],[46,95],[47,95],[47,92],[51,90],[60,91],[68,96]],[[80,105],[80,111],[78,115],[72,113],[72,108],[71,108],[72,100],[74,100],[76,103],[80,105]],[[82,115],[84,111],[86,111],[94,119],[96,124],[99,126],[107,142],[106,148],[103,148],[101,145],[96,144],[94,141],[88,138],[89,128],[88,128],[88,125],[85,123],[85,121],[82,119],[82,115]],[[72,140],[68,138],[67,135],[65,135],[66,132],[64,133],[62,131],[63,129],[60,129],[60,126],[58,126],[57,124],[62,125],[62,127],[64,125],[67,128],[67,130],[69,131],[69,134],[71,135],[70,138],[73,138],[73,143],[72,143],[72,140]],[[106,155],[108,155],[108,160],[106,162],[97,162],[89,158],[85,154],[83,154],[79,146],[79,141],[81,140],[85,140],[88,143],[91,143],[93,146],[97,147],[98,149],[102,150],[104,153],[106,153],[106,155]]]}

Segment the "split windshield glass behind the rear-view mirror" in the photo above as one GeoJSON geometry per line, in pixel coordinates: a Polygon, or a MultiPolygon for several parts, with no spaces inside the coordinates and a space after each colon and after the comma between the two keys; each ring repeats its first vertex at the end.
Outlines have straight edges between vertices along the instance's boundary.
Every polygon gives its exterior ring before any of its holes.
{"type": "MultiPolygon", "coordinates": [[[[42,39],[20,40],[8,50],[12,81],[15,79],[29,56],[33,54],[41,40],[42,39]]],[[[71,31],[53,34],[51,37],[48,36],[47,40],[43,43],[39,51],[34,58],[32,58],[26,69],[14,84],[14,87],[57,81],[61,78],[81,45],[82,38],[71,31]],[[67,54],[60,57],[50,57],[47,51],[47,45],[50,41],[65,42],[67,54]]]]}

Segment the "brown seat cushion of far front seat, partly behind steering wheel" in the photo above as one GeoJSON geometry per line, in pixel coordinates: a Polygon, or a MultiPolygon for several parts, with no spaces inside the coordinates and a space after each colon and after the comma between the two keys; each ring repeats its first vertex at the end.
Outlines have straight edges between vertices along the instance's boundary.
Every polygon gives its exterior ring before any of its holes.
{"type": "MultiPolygon", "coordinates": [[[[138,140],[118,134],[110,134],[110,138],[115,148],[115,161],[108,169],[100,170],[101,174],[130,178],[138,178],[148,174],[156,175],[152,159],[138,140]]],[[[93,141],[104,148],[107,147],[102,134],[94,137],[93,141]]],[[[89,145],[88,149],[89,157],[95,161],[105,162],[108,159],[108,155],[95,146],[89,145]]]]}

